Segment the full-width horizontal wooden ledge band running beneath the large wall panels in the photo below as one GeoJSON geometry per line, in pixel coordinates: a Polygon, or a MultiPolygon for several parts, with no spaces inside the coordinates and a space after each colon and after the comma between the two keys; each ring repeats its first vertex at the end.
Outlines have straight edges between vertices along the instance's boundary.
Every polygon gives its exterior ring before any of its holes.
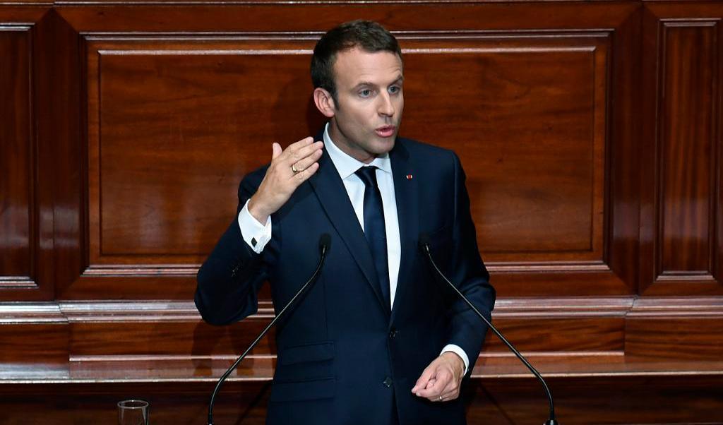
{"type": "MultiPolygon", "coordinates": [[[[25,302],[0,305],[0,340],[22,338],[22,326],[52,325],[48,329],[54,330],[54,351],[48,351],[40,363],[223,362],[243,351],[273,317],[273,305],[268,301],[260,302],[256,314],[225,327],[202,322],[189,301],[25,302]],[[64,357],[59,357],[61,352],[64,357]]],[[[717,366],[689,366],[714,368],[711,370],[723,374],[719,361],[723,353],[723,296],[499,299],[492,319],[526,355],[552,368],[567,364],[573,368],[570,373],[580,376],[591,372],[624,374],[630,367],[654,372],[650,361],[718,361],[717,366]],[[642,363],[633,366],[634,362],[642,363]],[[575,372],[574,364],[581,369],[575,372]]],[[[7,355],[14,356],[12,352],[7,355]]],[[[479,356],[487,366],[518,369],[505,360],[512,355],[491,332],[479,356]]],[[[262,373],[268,373],[273,366],[269,359],[273,358],[272,332],[254,348],[252,359],[260,362],[257,366],[262,373]]],[[[245,370],[257,373],[252,366],[245,370]]]]}

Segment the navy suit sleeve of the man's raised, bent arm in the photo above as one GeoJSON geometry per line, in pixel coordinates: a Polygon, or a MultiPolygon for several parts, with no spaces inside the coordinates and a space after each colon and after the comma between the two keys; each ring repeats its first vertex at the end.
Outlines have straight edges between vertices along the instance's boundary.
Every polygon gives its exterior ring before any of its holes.
{"type": "Polygon", "coordinates": [[[268,267],[263,252],[257,254],[244,241],[237,218],[264,174],[261,169],[241,181],[234,220],[198,270],[196,307],[211,325],[227,325],[257,312],[257,293],[268,278],[268,267]]]}

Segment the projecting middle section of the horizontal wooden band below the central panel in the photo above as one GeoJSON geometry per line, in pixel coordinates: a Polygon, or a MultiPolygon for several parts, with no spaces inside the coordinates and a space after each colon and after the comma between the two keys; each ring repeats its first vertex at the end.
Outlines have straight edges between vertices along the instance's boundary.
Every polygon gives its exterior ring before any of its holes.
{"type": "MultiPolygon", "coordinates": [[[[630,299],[504,300],[495,325],[522,351],[622,351],[630,299]]],[[[70,356],[228,356],[241,353],[273,319],[270,304],[243,322],[213,327],[192,303],[63,303],[71,327],[70,356]]],[[[273,332],[254,354],[275,355],[273,332]]],[[[489,333],[484,353],[506,352],[489,333]]]]}

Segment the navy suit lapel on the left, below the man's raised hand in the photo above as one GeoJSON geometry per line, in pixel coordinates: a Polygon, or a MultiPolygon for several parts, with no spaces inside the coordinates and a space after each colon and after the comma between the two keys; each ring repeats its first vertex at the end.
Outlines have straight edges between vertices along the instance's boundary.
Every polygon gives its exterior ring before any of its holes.
{"type": "MultiPolygon", "coordinates": [[[[317,137],[316,140],[322,140],[322,137],[317,137]]],[[[359,265],[361,272],[367,278],[367,283],[377,294],[380,306],[383,307],[385,302],[379,291],[372,252],[369,250],[367,239],[364,238],[364,231],[359,226],[359,220],[356,218],[354,207],[351,205],[343,181],[341,181],[341,177],[326,150],[323,151],[319,160],[319,170],[309,178],[309,183],[314,188],[319,202],[332,225],[343,239],[344,244],[351,252],[351,256],[354,257],[354,261],[359,265]]],[[[389,314],[388,308],[382,309],[389,314]]]]}

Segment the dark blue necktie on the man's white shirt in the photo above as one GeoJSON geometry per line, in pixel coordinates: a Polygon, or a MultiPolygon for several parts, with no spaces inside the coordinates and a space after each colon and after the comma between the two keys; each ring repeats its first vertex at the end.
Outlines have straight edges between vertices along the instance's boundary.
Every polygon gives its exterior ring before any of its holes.
{"type": "Polygon", "coordinates": [[[364,182],[364,236],[377,268],[382,297],[388,309],[392,308],[389,293],[389,262],[387,259],[387,231],[384,226],[384,205],[377,185],[377,167],[361,167],[355,173],[364,182]]]}

